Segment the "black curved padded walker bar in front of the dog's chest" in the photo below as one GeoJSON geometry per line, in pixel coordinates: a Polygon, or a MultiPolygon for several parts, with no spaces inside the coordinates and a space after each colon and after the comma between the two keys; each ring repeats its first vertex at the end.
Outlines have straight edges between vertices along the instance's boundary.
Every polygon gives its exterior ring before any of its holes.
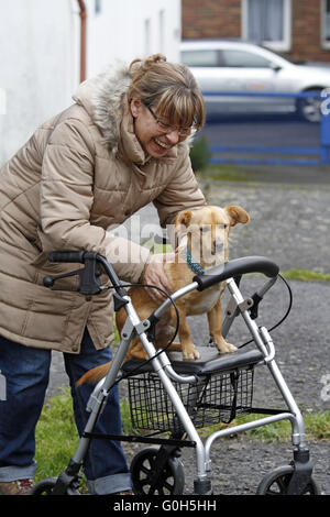
{"type": "Polygon", "coordinates": [[[265,256],[243,256],[220,266],[211,267],[204,275],[196,275],[194,282],[198,284],[197,290],[204,290],[219,282],[246,273],[263,273],[274,278],[278,275],[278,266],[265,256]]]}

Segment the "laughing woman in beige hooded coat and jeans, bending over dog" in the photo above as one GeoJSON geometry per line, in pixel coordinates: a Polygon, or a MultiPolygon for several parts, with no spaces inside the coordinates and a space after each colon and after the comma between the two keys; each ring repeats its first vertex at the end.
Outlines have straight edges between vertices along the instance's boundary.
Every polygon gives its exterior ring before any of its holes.
{"type": "MultiPolygon", "coordinates": [[[[110,292],[86,300],[43,287],[54,250],[96,251],[124,280],[170,289],[162,261],[147,249],[107,232],[153,201],[161,224],[205,205],[186,143],[205,120],[190,72],[162,55],[135,59],[80,85],[75,103],[38,128],[0,172],[0,493],[24,494],[35,473],[34,429],[48,383],[51,350],[64,352],[79,432],[90,388],[75,382],[109,361],[110,292]],[[128,246],[128,244],[130,244],[128,246]],[[128,251],[121,261],[118,252],[128,251]]],[[[65,279],[63,287],[75,286],[65,279]]],[[[154,295],[157,296],[157,295],[154,295]]],[[[120,433],[113,388],[99,432],[120,433]]],[[[94,440],[85,464],[89,492],[131,490],[119,442],[94,440]]]]}

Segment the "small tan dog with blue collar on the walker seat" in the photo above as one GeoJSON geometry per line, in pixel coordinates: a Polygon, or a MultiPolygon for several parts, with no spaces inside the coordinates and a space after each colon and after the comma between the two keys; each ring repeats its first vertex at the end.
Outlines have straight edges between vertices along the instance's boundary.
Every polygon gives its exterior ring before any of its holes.
{"type": "MultiPolygon", "coordinates": [[[[174,290],[191,283],[200,268],[207,270],[226,263],[228,261],[228,238],[231,228],[239,222],[244,224],[248,221],[249,215],[237,205],[229,205],[224,209],[208,206],[180,212],[175,223],[179,242],[175,250],[175,261],[164,264],[165,273],[174,290]]],[[[176,300],[179,314],[179,343],[173,343],[169,350],[182,351],[184,359],[198,359],[199,353],[191,341],[186,317],[207,312],[209,332],[219,352],[237,351],[237,348],[228,343],[222,337],[222,292],[223,286],[217,284],[204,292],[194,290],[176,300]]],[[[156,302],[148,296],[147,289],[143,287],[130,288],[129,296],[141,320],[148,318],[157,308],[156,302]]],[[[116,316],[119,332],[121,332],[125,319],[127,314],[122,308],[116,316]]],[[[173,336],[175,322],[176,312],[172,306],[157,323],[155,348],[166,346],[170,336],[173,336]]],[[[139,337],[134,338],[130,344],[125,361],[130,359],[147,359],[139,337]]],[[[100,381],[107,374],[110,364],[107,363],[90,370],[77,384],[100,381]]]]}

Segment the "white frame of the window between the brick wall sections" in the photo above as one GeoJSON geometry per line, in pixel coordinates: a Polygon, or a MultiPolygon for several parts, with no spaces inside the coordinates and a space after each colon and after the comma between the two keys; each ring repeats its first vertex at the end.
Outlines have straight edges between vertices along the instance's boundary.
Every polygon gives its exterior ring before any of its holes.
{"type": "MultiPolygon", "coordinates": [[[[241,34],[242,38],[245,41],[248,40],[249,34],[249,9],[248,9],[249,0],[241,0],[241,34]]],[[[284,20],[283,20],[283,40],[280,41],[263,41],[261,42],[263,46],[270,48],[271,51],[275,52],[289,52],[292,50],[292,18],[293,18],[293,7],[292,0],[283,0],[284,2],[284,20]]],[[[330,48],[330,46],[329,46],[330,48]]]]}

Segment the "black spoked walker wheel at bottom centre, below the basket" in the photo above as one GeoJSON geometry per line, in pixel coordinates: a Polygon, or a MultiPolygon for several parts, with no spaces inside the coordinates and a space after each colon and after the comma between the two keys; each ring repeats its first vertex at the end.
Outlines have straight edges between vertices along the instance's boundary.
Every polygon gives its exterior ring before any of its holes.
{"type": "Polygon", "coordinates": [[[131,463],[131,476],[135,495],[176,495],[183,494],[185,473],[177,458],[168,458],[157,477],[158,449],[143,449],[134,455],[131,463]]]}

